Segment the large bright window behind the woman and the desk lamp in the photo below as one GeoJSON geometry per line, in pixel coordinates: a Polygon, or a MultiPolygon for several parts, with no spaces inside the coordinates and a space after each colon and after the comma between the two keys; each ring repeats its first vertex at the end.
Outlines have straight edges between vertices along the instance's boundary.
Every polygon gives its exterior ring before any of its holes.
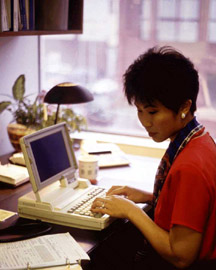
{"type": "Polygon", "coordinates": [[[82,35],[41,37],[42,89],[80,83],[95,97],[73,106],[87,117],[89,130],[144,136],[123,96],[122,75],[149,47],[169,44],[199,70],[197,117],[216,138],[215,14],[216,0],[85,1],[82,35]]]}

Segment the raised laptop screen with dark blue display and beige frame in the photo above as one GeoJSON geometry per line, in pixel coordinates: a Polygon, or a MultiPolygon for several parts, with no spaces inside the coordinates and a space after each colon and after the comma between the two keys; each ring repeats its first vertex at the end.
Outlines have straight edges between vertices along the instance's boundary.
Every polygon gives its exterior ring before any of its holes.
{"type": "Polygon", "coordinates": [[[27,135],[20,143],[35,192],[62,177],[75,181],[77,163],[65,123],[27,135]]]}

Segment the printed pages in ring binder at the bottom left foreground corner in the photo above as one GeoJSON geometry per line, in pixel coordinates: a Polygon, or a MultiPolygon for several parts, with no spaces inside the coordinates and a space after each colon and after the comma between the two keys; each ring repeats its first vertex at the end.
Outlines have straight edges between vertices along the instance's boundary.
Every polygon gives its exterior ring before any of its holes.
{"type": "Polygon", "coordinates": [[[90,258],[69,233],[0,244],[0,270],[64,269],[60,266],[78,265],[81,260],[90,258]]]}

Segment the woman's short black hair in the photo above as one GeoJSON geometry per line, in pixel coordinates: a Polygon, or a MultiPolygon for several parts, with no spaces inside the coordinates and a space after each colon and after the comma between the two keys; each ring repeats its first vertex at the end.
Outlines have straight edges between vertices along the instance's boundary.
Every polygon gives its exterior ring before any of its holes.
{"type": "Polygon", "coordinates": [[[178,113],[181,105],[192,100],[196,111],[199,76],[189,58],[170,46],[153,47],[141,54],[123,75],[128,103],[161,102],[178,113]]]}

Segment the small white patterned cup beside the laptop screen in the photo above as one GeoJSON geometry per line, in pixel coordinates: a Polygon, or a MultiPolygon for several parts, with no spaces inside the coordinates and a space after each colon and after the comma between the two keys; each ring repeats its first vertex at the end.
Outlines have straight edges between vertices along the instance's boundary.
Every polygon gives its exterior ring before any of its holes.
{"type": "Polygon", "coordinates": [[[94,155],[83,155],[78,158],[79,177],[96,180],[98,175],[98,157],[94,155]]]}

